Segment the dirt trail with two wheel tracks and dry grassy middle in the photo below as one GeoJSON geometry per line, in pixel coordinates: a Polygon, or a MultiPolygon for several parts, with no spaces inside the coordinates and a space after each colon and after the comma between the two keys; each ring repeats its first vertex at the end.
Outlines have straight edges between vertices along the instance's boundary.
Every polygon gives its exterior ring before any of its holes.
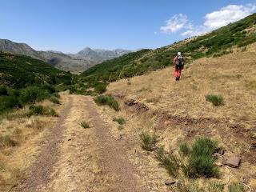
{"type": "Polygon", "coordinates": [[[29,177],[14,191],[149,191],[92,98],[68,97],[29,177]],[[83,129],[82,121],[91,128],[83,129]]]}

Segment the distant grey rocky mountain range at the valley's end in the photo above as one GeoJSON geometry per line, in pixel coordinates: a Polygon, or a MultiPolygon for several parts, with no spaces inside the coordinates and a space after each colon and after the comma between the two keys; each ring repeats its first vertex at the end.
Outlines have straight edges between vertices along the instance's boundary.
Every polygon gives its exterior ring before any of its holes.
{"type": "Polygon", "coordinates": [[[90,47],[86,47],[85,49],[80,50],[77,54],[64,54],[54,50],[37,51],[26,43],[12,42],[8,39],[0,39],[0,50],[3,52],[23,54],[32,58],[37,58],[60,70],[70,71],[74,74],[79,74],[98,63],[118,58],[131,52],[131,50],[121,49],[93,50],[90,49],[90,47]]]}

